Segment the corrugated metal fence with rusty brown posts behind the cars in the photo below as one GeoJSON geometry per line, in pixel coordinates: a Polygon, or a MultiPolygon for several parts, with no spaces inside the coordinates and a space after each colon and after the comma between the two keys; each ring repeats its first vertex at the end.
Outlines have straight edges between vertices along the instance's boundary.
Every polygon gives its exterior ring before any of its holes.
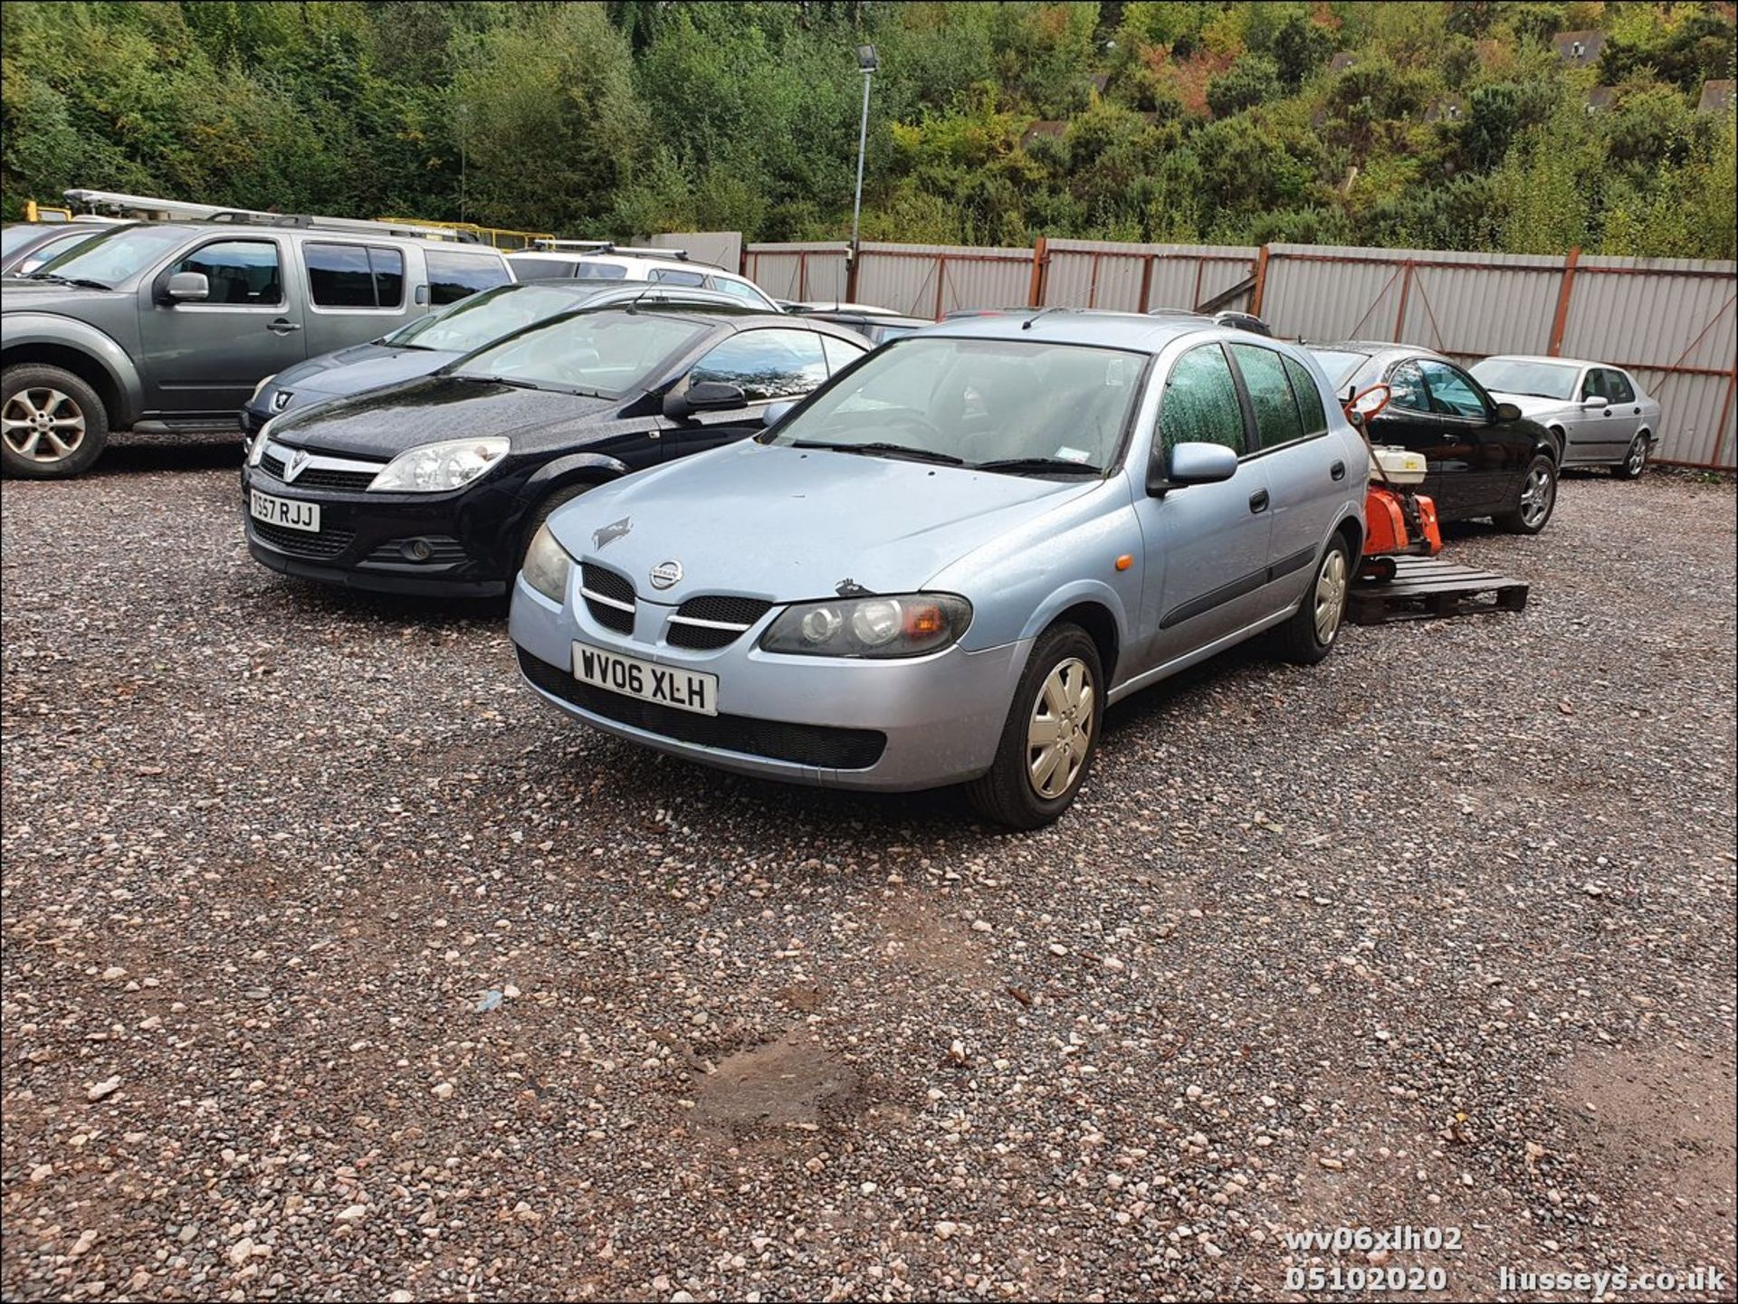
{"type": "Polygon", "coordinates": [[[912,316],[959,307],[1248,307],[1288,339],[1404,340],[1451,358],[1538,352],[1634,372],[1665,406],[1662,462],[1735,469],[1738,266],[1689,259],[1448,254],[1324,245],[1034,248],[749,245],[777,299],[857,300],[912,316]]]}

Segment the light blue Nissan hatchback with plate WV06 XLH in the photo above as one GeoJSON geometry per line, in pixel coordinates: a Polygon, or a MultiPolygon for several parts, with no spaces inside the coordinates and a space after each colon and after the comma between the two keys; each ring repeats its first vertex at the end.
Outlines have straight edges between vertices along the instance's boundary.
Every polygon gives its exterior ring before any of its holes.
{"type": "Polygon", "coordinates": [[[549,517],[511,618],[544,698],[746,774],[965,783],[1036,828],[1107,705],[1262,630],[1300,663],[1340,630],[1368,455],[1283,342],[965,318],[765,420],[549,517]]]}

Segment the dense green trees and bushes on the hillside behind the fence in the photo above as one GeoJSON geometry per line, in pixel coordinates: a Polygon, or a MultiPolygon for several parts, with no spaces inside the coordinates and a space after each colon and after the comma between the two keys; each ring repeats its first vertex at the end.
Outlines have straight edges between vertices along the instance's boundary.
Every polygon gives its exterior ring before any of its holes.
{"type": "Polygon", "coordinates": [[[839,238],[852,47],[869,40],[869,240],[1735,255],[1733,115],[1696,111],[1705,80],[1733,76],[1731,3],[9,0],[0,14],[9,217],[94,186],[563,234],[839,238]],[[1576,68],[1550,38],[1583,28],[1604,45],[1576,68]],[[1595,87],[1609,94],[1589,108],[1595,87]]]}

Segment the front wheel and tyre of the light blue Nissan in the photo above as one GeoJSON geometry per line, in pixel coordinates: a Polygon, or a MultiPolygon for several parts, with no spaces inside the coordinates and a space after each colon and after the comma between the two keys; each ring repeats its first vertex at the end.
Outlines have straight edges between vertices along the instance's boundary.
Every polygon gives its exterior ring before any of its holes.
{"type": "Polygon", "coordinates": [[[1098,646],[1079,625],[1051,625],[1020,674],[989,773],[966,785],[985,820],[1043,828],[1079,792],[1098,748],[1104,668],[1098,646]]]}

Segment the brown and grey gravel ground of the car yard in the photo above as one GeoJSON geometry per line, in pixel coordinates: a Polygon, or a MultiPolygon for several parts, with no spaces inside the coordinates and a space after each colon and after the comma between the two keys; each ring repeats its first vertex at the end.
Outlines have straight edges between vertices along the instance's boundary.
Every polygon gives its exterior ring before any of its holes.
{"type": "Polygon", "coordinates": [[[1224,656],[1010,837],[575,728],[231,462],[5,484],[5,1297],[1731,1297],[1729,484],[1462,530],[1526,613],[1224,656]]]}

